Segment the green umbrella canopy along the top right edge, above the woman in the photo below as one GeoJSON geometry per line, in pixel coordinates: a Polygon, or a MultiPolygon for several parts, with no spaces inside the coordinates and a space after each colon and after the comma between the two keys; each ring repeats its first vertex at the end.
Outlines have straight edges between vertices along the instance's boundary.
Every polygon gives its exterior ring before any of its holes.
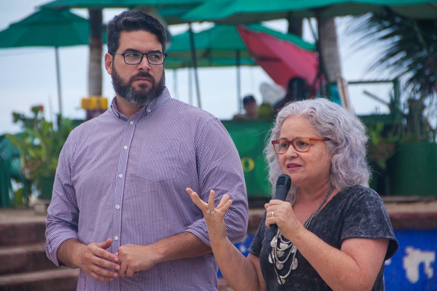
{"type": "Polygon", "coordinates": [[[208,0],[188,12],[186,21],[253,23],[295,17],[358,15],[389,7],[411,18],[436,19],[437,4],[430,0],[208,0]]]}

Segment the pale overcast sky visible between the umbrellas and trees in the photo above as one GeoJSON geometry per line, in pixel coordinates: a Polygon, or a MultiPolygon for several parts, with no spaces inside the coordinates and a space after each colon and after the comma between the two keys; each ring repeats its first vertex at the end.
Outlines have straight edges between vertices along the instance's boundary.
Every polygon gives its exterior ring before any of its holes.
{"type": "MultiPolygon", "coordinates": [[[[46,3],[44,0],[14,0],[0,3],[0,30],[6,29],[12,22],[17,22],[32,14],[35,7],[46,3]]],[[[87,10],[75,9],[73,13],[88,17],[87,10]]],[[[107,22],[120,9],[104,9],[103,20],[107,22]]],[[[382,76],[367,72],[369,61],[375,57],[374,50],[354,51],[350,42],[345,40],[344,28],[347,18],[337,19],[340,55],[343,76],[346,80],[380,79],[382,76]]],[[[285,31],[285,21],[274,21],[267,24],[270,28],[285,31]]],[[[198,25],[202,30],[208,24],[198,25]]],[[[186,30],[186,25],[171,26],[172,34],[186,30]]],[[[304,38],[312,41],[309,33],[304,38]]],[[[61,48],[60,66],[64,116],[84,118],[84,110],[80,108],[80,100],[87,96],[88,49],[86,46],[61,48]]],[[[103,49],[103,53],[106,48],[103,49]]],[[[0,49],[0,96],[4,100],[0,108],[0,134],[17,132],[19,127],[12,123],[12,112],[29,113],[31,106],[43,104],[46,117],[52,118],[58,112],[55,54],[53,48],[17,48],[0,49]],[[51,113],[51,115],[50,115],[51,113]]],[[[177,78],[173,70],[166,71],[167,86],[173,97],[189,102],[188,74],[186,69],[177,70],[177,78]],[[177,80],[177,81],[175,81],[177,80]]],[[[202,109],[213,113],[220,119],[229,119],[237,111],[236,70],[230,68],[199,69],[201,83],[202,109]]],[[[260,67],[242,67],[242,95],[253,94],[258,101],[262,96],[259,85],[262,82],[273,84],[273,81],[260,67]]],[[[389,99],[390,85],[351,86],[350,96],[356,113],[387,112],[387,108],[362,94],[366,89],[372,94],[389,99]]],[[[196,100],[193,87],[193,100],[196,100]]],[[[114,96],[111,79],[103,71],[103,96],[109,100],[114,96]]],[[[195,103],[196,105],[196,103],[195,103]]]]}

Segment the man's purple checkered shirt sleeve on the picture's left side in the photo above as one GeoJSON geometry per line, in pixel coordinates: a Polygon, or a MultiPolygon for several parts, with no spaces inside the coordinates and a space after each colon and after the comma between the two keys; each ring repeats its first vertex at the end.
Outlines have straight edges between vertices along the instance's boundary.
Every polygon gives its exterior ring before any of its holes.
{"type": "Polygon", "coordinates": [[[68,239],[78,239],[79,210],[70,171],[71,136],[72,133],[68,136],[59,156],[46,218],[46,254],[57,266],[62,266],[57,258],[61,243],[68,239]]]}

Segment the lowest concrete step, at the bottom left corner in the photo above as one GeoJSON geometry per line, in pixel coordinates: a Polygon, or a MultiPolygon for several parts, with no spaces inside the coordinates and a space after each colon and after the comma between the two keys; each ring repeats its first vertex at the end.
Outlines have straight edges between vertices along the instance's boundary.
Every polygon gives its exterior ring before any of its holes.
{"type": "Polygon", "coordinates": [[[79,269],[0,275],[0,291],[75,291],[79,269]]]}

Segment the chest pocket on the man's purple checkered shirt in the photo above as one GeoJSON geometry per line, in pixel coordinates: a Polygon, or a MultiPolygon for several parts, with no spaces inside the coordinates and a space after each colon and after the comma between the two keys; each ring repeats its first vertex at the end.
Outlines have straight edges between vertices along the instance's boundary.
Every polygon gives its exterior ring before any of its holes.
{"type": "Polygon", "coordinates": [[[142,146],[133,174],[152,182],[177,178],[181,171],[180,146],[181,143],[177,141],[160,141],[142,146]]]}

